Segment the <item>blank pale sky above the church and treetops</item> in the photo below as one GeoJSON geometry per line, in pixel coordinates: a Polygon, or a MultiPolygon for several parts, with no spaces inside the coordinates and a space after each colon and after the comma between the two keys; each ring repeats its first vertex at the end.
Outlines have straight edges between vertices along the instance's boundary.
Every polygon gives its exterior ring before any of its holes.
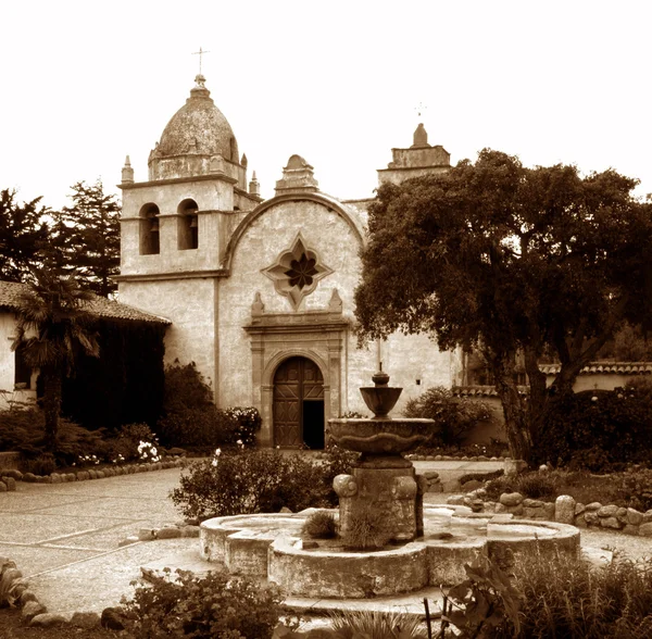
{"type": "Polygon", "coordinates": [[[265,198],[293,153],[319,188],[373,197],[423,122],[452,163],[616,171],[652,192],[649,0],[4,2],[0,189],[70,203],[150,150],[199,70],[265,198]],[[419,115],[419,104],[421,115],[419,115]]]}

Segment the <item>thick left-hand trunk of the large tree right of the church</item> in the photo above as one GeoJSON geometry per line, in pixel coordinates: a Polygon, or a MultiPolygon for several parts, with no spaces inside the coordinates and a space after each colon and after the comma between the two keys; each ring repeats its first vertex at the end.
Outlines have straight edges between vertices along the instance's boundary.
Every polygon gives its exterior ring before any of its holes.
{"type": "Polygon", "coordinates": [[[516,384],[516,356],[515,353],[503,353],[487,358],[493,377],[496,390],[500,397],[505,417],[505,434],[510,454],[515,460],[525,460],[528,464],[531,459],[532,440],[529,431],[527,401],[519,394],[516,384]]]}

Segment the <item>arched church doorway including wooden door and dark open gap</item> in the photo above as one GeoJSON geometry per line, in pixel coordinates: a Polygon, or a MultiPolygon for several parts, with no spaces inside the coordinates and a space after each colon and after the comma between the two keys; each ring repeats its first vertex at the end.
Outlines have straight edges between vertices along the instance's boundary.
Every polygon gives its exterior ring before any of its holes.
{"type": "Polygon", "coordinates": [[[274,375],[274,446],[324,448],[324,377],[306,358],[289,358],[274,375]]]}

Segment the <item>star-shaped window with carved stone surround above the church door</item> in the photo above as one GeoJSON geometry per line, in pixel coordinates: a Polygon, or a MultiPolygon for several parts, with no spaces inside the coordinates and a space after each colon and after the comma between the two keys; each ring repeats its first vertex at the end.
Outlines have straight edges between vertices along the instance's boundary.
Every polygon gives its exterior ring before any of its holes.
{"type": "Polygon", "coordinates": [[[288,298],[296,311],[301,300],[317,288],[323,277],[333,268],[323,264],[317,252],[310,249],[301,234],[298,234],[289,250],[278,255],[276,262],[262,270],[273,283],[276,292],[288,298]]]}

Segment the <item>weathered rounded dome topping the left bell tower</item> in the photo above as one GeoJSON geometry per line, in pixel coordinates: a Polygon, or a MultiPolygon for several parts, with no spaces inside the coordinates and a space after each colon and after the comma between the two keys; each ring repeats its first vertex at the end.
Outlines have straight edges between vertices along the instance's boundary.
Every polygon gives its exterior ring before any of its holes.
{"type": "MultiPolygon", "coordinates": [[[[192,161],[193,156],[196,160],[201,156],[209,161],[215,155],[222,155],[225,160],[239,164],[236,136],[222,111],[215,106],[211,92],[204,86],[205,78],[198,75],[195,82],[197,84],[191,89],[190,97],[172,116],[161,141],[150,154],[149,164],[150,170],[153,170],[153,177],[171,177],[161,175],[160,170],[163,168],[162,165],[168,165],[173,158],[179,156],[185,156],[184,164],[187,167],[190,166],[188,161],[191,165],[197,164],[192,161]]],[[[199,173],[203,171],[200,170],[199,173]]]]}

